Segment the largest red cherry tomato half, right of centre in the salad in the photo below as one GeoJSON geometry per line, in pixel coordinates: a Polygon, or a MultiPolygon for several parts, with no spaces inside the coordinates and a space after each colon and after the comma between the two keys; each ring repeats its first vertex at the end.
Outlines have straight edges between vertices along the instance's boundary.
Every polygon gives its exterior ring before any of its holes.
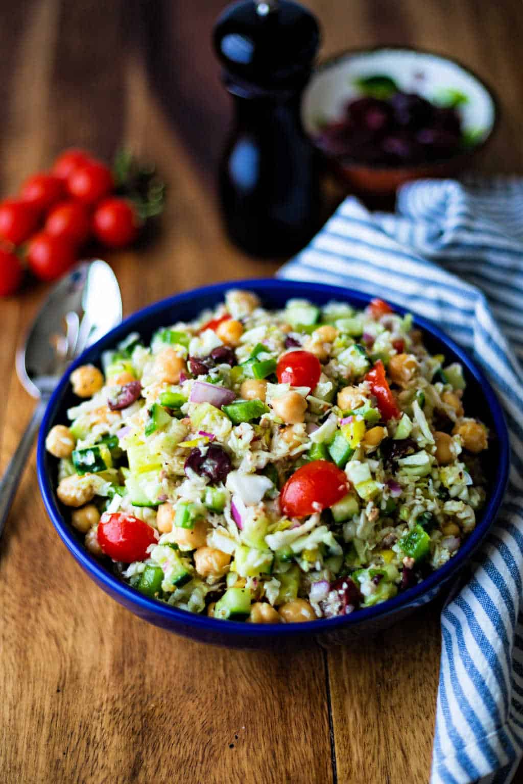
{"type": "Polygon", "coordinates": [[[349,492],[346,474],[328,460],[313,460],[301,466],[281,488],[280,506],[288,517],[329,509],[349,492]]]}

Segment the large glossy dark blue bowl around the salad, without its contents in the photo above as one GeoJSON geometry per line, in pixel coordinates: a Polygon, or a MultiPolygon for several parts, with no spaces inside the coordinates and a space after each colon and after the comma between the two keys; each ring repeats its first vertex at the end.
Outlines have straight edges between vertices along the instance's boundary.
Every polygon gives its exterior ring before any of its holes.
{"type": "MultiPolygon", "coordinates": [[[[143,308],[138,313],[125,319],[121,325],[114,328],[104,338],[86,350],[81,357],[71,366],[70,371],[77,365],[86,362],[98,363],[104,350],[111,349],[129,332],[140,332],[143,339],[151,338],[152,333],[162,325],[168,325],[178,320],[194,318],[201,310],[215,307],[227,289],[241,287],[256,292],[267,307],[281,308],[290,297],[300,296],[312,302],[324,304],[330,299],[345,300],[354,307],[362,308],[369,302],[369,296],[340,289],[335,286],[320,285],[318,283],[298,283],[294,281],[281,281],[275,279],[231,281],[217,285],[195,289],[177,296],[164,299],[143,308]]],[[[398,313],[404,313],[401,307],[396,307],[398,313]]],[[[223,644],[231,647],[262,648],[278,644],[279,639],[296,641],[304,644],[309,641],[320,641],[321,644],[343,642],[365,633],[380,630],[397,622],[403,616],[412,612],[416,607],[427,604],[434,599],[445,587],[449,588],[451,581],[456,578],[459,569],[470,559],[474,550],[483,542],[488,533],[507,483],[509,466],[509,441],[507,426],[503,411],[485,376],[474,365],[465,352],[451,339],[445,336],[438,327],[416,317],[416,325],[425,332],[425,342],[430,350],[435,353],[445,354],[447,361],[462,363],[467,379],[465,404],[467,413],[480,417],[496,437],[492,439],[490,461],[492,465],[491,485],[488,494],[488,503],[482,510],[481,517],[474,532],[460,547],[458,553],[447,564],[434,572],[418,586],[398,594],[383,604],[363,609],[353,615],[339,618],[322,619],[314,623],[263,626],[260,624],[238,623],[208,618],[206,615],[194,615],[190,612],[176,609],[154,599],[143,596],[125,583],[122,583],[113,573],[111,568],[91,556],[82,544],[82,540],[71,528],[64,517],[60,503],[56,499],[56,468],[57,461],[45,452],[45,435],[57,423],[67,422],[66,411],[75,402],[78,402],[71,393],[68,381],[69,373],[60,381],[45,412],[45,417],[38,438],[38,483],[42,491],[45,509],[53,521],[60,539],[70,550],[78,564],[85,569],[91,579],[106,593],[113,597],[131,612],[139,615],[156,626],[169,631],[194,637],[196,640],[223,644]]]]}

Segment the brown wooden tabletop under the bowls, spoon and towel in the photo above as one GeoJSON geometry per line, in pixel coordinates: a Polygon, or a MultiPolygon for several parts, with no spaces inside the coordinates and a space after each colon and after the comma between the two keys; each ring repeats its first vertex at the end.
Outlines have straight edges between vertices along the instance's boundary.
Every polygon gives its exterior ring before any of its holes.
{"type": "MultiPolygon", "coordinates": [[[[520,0],[310,0],[322,55],[404,42],[456,56],[503,110],[481,168],[521,172],[520,0]]],[[[209,281],[270,275],[220,227],[214,171],[230,105],[209,46],[220,0],[0,3],[0,186],[72,144],[120,145],[160,165],[158,240],[110,256],[125,314],[209,281]]],[[[45,296],[0,304],[0,463],[33,401],[16,344],[45,296]]],[[[31,456],[0,557],[0,780],[427,782],[440,654],[438,606],[375,640],[308,652],[232,652],[169,635],[108,598],[43,510],[31,456]]],[[[523,782],[523,772],[516,779],[523,782]]]]}

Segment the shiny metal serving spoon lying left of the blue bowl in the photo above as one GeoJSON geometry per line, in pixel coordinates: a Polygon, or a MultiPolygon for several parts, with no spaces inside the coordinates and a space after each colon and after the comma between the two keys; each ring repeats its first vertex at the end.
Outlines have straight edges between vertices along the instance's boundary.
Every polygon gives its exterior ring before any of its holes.
{"type": "Polygon", "coordinates": [[[122,321],[122,297],[111,267],[83,261],[60,278],[16,354],[16,372],[38,400],[20,444],[0,481],[0,537],[45,407],[67,365],[122,321]]]}

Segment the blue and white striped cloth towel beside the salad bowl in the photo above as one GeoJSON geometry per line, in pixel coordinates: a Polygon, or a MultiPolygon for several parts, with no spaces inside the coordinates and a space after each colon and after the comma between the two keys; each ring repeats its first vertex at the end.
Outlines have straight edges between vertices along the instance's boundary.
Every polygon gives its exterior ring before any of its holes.
{"type": "Polygon", "coordinates": [[[279,275],[347,285],[444,325],[503,402],[511,469],[471,578],[441,615],[431,784],[510,782],[523,750],[523,180],[427,180],[394,215],[348,198],[279,275]]]}

